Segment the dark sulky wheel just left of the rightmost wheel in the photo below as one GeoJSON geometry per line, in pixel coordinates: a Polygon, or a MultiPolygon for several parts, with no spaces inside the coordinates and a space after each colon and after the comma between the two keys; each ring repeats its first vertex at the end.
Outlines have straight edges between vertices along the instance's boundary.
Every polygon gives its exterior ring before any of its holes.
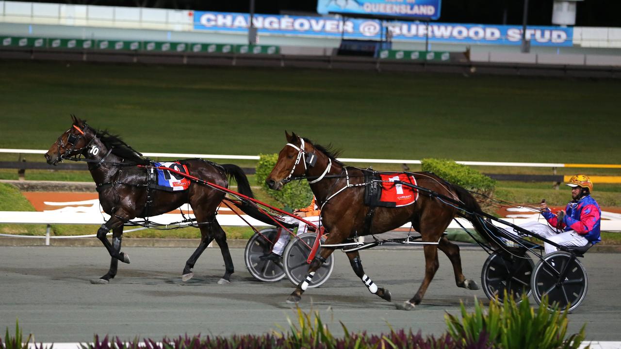
{"type": "Polygon", "coordinates": [[[504,292],[513,294],[516,304],[522,301],[522,294],[530,296],[530,276],[533,272],[533,260],[526,252],[507,253],[496,251],[487,257],[481,270],[483,292],[489,299],[498,296],[500,304],[504,303],[504,292]]]}

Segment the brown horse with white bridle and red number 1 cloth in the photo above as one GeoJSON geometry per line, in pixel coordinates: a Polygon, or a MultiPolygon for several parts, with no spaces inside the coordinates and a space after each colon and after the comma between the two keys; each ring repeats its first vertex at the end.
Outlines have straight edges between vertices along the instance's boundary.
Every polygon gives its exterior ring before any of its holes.
{"type": "MultiPolygon", "coordinates": [[[[370,207],[365,206],[364,171],[359,168],[345,167],[336,159],[337,154],[329,148],[314,145],[306,138],[285,132],[288,144],[278,155],[278,162],[266,183],[271,189],[279,190],[292,178],[306,178],[311,184],[312,192],[321,207],[322,224],[329,232],[326,245],[345,242],[355,236],[378,234],[401,227],[411,222],[417,232],[422,235],[423,242],[437,242],[437,245],[425,245],[425,279],[419,290],[409,301],[404,302],[399,309],[411,310],[419,304],[427,291],[433,275],[438,270],[438,248],[448,256],[455,271],[455,283],[466,289],[479,289],[471,279],[466,279],[461,271],[460,249],[454,243],[443,237],[443,232],[455,217],[458,209],[442,202],[438,197],[425,196],[420,193],[419,199],[409,206],[388,208],[376,207],[371,224],[365,227],[365,217],[370,207]]],[[[447,197],[452,197],[463,203],[463,207],[471,212],[480,212],[480,207],[471,194],[465,189],[447,183],[432,173],[413,173],[418,185],[447,197]]],[[[477,230],[481,225],[475,224],[477,230]]],[[[480,231],[479,231],[480,232],[480,231]]],[[[487,234],[481,234],[486,236],[487,234]]],[[[312,279],[315,270],[325,261],[334,248],[322,248],[309,266],[308,281],[312,279]]],[[[358,252],[347,252],[354,273],[362,279],[366,287],[373,294],[391,301],[388,289],[378,288],[365,274],[358,252]]],[[[308,282],[302,281],[295,291],[288,297],[287,302],[297,303],[302,293],[307,289],[308,282]]]]}

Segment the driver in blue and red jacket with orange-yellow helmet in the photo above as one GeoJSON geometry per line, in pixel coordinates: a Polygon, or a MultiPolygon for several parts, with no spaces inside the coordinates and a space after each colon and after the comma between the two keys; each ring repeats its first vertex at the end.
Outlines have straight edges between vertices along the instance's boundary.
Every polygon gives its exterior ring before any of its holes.
{"type": "MultiPolygon", "coordinates": [[[[593,183],[585,174],[576,174],[567,183],[571,187],[571,201],[564,210],[553,214],[548,204],[543,201],[540,205],[543,217],[548,224],[528,222],[520,227],[530,230],[557,243],[561,246],[584,246],[587,243],[601,241],[599,226],[602,211],[591,197],[593,183]]],[[[545,243],[545,253],[551,253],[558,248],[545,243]]]]}

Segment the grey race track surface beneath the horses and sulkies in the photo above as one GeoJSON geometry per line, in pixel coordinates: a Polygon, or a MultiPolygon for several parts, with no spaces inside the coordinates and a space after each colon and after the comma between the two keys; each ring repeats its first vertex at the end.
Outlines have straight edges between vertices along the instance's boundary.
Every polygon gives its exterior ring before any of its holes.
{"type": "MultiPolygon", "coordinates": [[[[243,249],[231,250],[236,272],[232,283],[219,285],[224,274],[218,248],[209,248],[194,268],[195,276],[181,282],[181,270],[192,248],[128,247],[132,264],[119,263],[119,274],[108,285],[89,279],[106,273],[110,258],[103,247],[0,247],[0,330],[15,327],[37,342],[83,342],[95,333],[129,340],[136,336],[230,335],[288,329],[295,307],[284,301],[293,286],[255,281],[243,265],[243,249]]],[[[396,310],[394,304],[370,294],[356,278],[344,253],[337,252],[335,270],[321,288],[302,297],[302,310],[319,310],[333,333],[339,321],[352,331],[371,333],[412,328],[424,334],[445,331],[446,312],[459,314],[460,301],[469,309],[474,297],[487,302],[483,291],[457,288],[450,262],[440,255],[440,270],[416,310],[396,310]]],[[[463,250],[465,274],[480,284],[481,250],[463,250]]],[[[424,276],[421,248],[375,249],[361,252],[363,266],[379,287],[392,292],[394,302],[412,297],[424,276]]],[[[587,340],[621,340],[621,301],[618,288],[621,255],[591,253],[582,260],[589,276],[585,301],[569,315],[569,333],[586,324],[587,340]]],[[[532,304],[534,301],[531,301],[532,304]]]]}

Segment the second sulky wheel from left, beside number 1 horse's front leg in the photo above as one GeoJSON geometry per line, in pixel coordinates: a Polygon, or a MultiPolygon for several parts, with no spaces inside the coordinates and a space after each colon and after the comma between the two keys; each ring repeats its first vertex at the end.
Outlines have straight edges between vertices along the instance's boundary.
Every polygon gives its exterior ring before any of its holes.
{"type": "MultiPolygon", "coordinates": [[[[317,237],[315,233],[303,233],[297,235],[297,238],[291,238],[291,242],[289,242],[287,247],[284,249],[284,272],[287,274],[289,281],[296,286],[306,279],[306,275],[308,274],[310,265],[306,263],[306,260],[311,253],[315,237],[317,237]]],[[[325,237],[322,237],[321,241],[324,242],[325,237]]],[[[316,255],[319,255],[319,252],[321,252],[321,247],[317,249],[316,255]]],[[[315,271],[315,275],[309,284],[309,288],[319,287],[324,284],[330,277],[330,274],[332,274],[333,269],[334,256],[330,255],[325,263],[322,264],[317,271],[315,271]]]]}

